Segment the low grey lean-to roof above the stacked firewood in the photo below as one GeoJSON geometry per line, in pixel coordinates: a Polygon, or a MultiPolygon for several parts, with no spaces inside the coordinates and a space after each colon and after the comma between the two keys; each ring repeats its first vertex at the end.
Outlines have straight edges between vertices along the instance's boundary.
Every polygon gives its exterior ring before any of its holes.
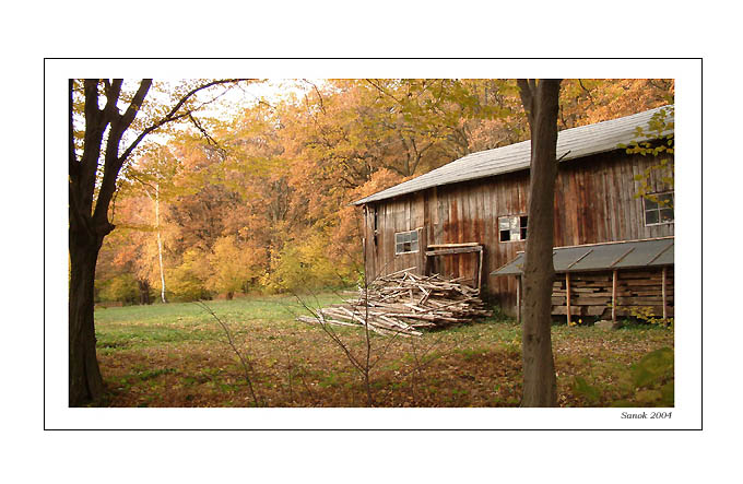
{"type": "MultiPolygon", "coordinates": [[[[640,269],[673,265],[673,237],[628,240],[586,246],[555,247],[555,272],[588,272],[613,269],[640,269]]],[[[524,253],[491,275],[518,275],[523,272],[524,253]]]]}

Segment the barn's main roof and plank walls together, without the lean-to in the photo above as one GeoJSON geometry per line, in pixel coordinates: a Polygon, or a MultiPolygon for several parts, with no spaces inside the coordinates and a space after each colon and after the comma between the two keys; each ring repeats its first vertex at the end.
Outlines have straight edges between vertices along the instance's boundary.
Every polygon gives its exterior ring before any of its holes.
{"type": "MultiPolygon", "coordinates": [[[[673,106],[665,106],[558,133],[555,247],[673,236],[669,174],[650,169],[673,155],[621,147],[671,135],[672,116],[673,106]],[[654,132],[653,116],[664,116],[668,129],[654,132]],[[636,177],[646,170],[660,203],[637,197],[636,177]]],[[[364,211],[367,275],[415,267],[462,276],[515,314],[517,278],[492,273],[526,248],[530,157],[530,141],[472,153],[354,202],[364,211]]]]}

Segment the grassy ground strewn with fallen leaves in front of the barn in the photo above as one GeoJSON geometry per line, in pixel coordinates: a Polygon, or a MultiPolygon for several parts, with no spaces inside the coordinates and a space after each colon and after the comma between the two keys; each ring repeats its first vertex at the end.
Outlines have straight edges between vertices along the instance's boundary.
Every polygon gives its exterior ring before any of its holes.
{"type": "MultiPolygon", "coordinates": [[[[318,307],[335,295],[304,297],[318,307]]],[[[366,406],[361,374],[291,296],[207,303],[250,366],[259,405],[366,406]]],[[[497,311],[496,311],[497,314],[497,311]]],[[[245,370],[226,333],[196,304],[99,308],[98,359],[107,386],[99,406],[251,406],[245,370]]],[[[364,332],[334,328],[365,354],[364,332]]],[[[673,330],[553,326],[561,406],[672,406],[673,330]]],[[[518,406],[520,328],[505,317],[428,332],[371,337],[377,406],[518,406]]],[[[364,361],[365,358],[361,358],[364,361]]]]}

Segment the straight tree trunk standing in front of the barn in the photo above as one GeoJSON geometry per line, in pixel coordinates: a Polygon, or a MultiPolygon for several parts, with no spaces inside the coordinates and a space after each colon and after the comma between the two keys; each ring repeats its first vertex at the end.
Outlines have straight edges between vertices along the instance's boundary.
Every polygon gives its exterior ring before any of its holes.
{"type": "Polygon", "coordinates": [[[523,269],[521,406],[556,406],[551,297],[555,276],[552,249],[559,81],[519,81],[519,86],[531,128],[529,233],[523,269]]]}

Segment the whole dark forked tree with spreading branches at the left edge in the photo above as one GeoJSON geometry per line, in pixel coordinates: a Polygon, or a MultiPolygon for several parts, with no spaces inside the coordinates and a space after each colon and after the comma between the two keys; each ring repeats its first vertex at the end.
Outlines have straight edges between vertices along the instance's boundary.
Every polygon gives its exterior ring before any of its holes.
{"type": "Polygon", "coordinates": [[[103,393],[103,379],[95,357],[93,321],[95,262],[104,237],[114,229],[114,225],[108,222],[108,209],[116,192],[116,180],[121,167],[149,133],[186,116],[193,120],[191,116],[193,109],[187,104],[197,93],[213,85],[237,81],[239,80],[211,81],[189,91],[169,111],[166,111],[164,117],[153,120],[146,128],[140,130],[139,135],[121,152],[119,150],[121,139],[140,111],[152,86],[152,79],[143,79],[140,82],[123,114],[118,107],[122,79],[84,80],[82,82],[84,107],[81,111],[75,111],[75,81],[69,80],[71,406],[95,400],[103,393]],[[103,109],[98,106],[102,95],[106,97],[103,109]],[[82,150],[75,147],[75,113],[84,116],[84,122],[81,125],[84,127],[81,133],[82,150]],[[102,151],[106,132],[108,135],[105,140],[105,150],[102,151]]]}

